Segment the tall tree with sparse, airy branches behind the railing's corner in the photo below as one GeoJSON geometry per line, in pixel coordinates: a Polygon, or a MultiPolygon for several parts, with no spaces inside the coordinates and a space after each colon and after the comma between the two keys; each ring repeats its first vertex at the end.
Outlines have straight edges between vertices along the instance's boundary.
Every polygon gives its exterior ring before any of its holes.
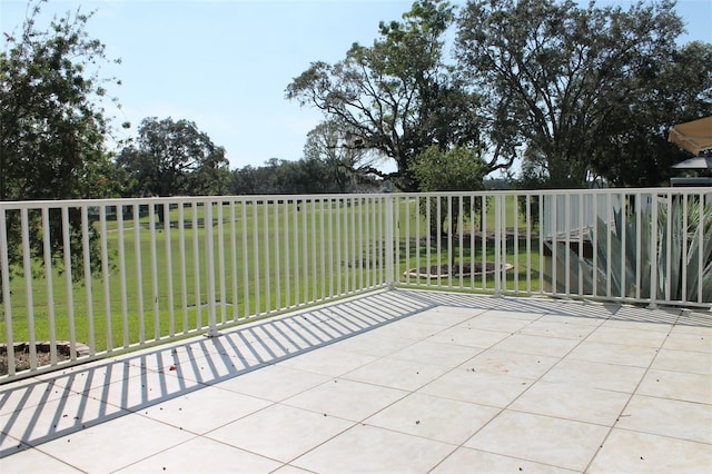
{"type": "MultiPolygon", "coordinates": [[[[478,96],[444,62],[444,39],[455,20],[447,2],[416,1],[403,21],[379,24],[372,47],[358,43],[335,65],[314,62],[287,88],[287,98],[324,111],[340,130],[344,146],[367,149],[395,161],[396,171],[369,172],[402,190],[417,190],[411,165],[435,145],[479,149],[478,96]]],[[[494,154],[490,170],[511,165],[494,154]]]]}

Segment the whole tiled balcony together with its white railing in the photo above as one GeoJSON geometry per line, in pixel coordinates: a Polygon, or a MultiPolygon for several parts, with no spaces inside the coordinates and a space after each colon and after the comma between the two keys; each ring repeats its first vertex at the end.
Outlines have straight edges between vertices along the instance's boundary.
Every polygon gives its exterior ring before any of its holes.
{"type": "Polygon", "coordinates": [[[710,198],[2,203],[0,466],[706,471],[710,198]]]}

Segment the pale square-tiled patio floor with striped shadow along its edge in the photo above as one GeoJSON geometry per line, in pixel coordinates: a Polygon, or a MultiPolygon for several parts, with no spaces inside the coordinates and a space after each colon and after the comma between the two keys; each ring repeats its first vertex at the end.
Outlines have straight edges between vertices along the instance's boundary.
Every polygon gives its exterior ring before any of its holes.
{"type": "Polygon", "coordinates": [[[712,315],[384,290],[0,386],[0,471],[710,472],[712,315]]]}

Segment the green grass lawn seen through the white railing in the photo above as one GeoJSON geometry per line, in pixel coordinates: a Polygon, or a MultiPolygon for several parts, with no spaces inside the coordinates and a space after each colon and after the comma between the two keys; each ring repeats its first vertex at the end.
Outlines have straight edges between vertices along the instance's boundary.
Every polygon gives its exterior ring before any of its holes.
{"type": "MultiPolygon", "coordinates": [[[[385,275],[374,267],[384,258],[384,243],[376,238],[359,237],[367,229],[383,226],[383,210],[375,203],[362,199],[355,199],[350,206],[303,203],[298,213],[294,213],[295,203],[238,204],[234,216],[229,207],[219,215],[217,206],[214,206],[210,210],[217,322],[229,323],[250,315],[269,314],[296,304],[324,299],[335,293],[345,294],[358,290],[364,285],[382,283],[385,275]],[[278,235],[274,234],[275,221],[280,228],[278,235]],[[222,248],[219,246],[219,233],[224,236],[222,248]],[[236,240],[235,247],[233,239],[236,240]],[[289,258],[286,260],[287,255],[289,258]],[[330,264],[322,265],[320,255],[325,255],[330,264]],[[221,273],[225,274],[224,286],[220,285],[221,273]]],[[[426,265],[427,256],[426,245],[417,248],[415,240],[406,244],[404,233],[408,229],[413,236],[426,239],[427,221],[414,201],[408,206],[402,200],[399,203],[396,210],[399,228],[394,237],[399,237],[396,278],[403,279],[406,269],[426,265]]],[[[146,230],[151,220],[159,226],[157,217],[151,219],[150,216],[142,216],[136,221],[107,220],[105,241],[110,257],[109,270],[93,274],[88,284],[83,280],[72,283],[69,293],[67,275],[57,268],[49,277],[36,271],[30,280],[22,276],[13,278],[10,285],[13,339],[29,338],[30,319],[33,322],[36,339],[49,339],[50,313],[55,315],[57,339],[70,339],[70,322],[73,320],[76,340],[93,344],[96,350],[180,335],[206,326],[209,303],[206,214],[207,209],[201,206],[171,209],[170,225],[159,229],[155,240],[146,230]],[[119,231],[119,225],[123,227],[123,233],[119,231]],[[138,243],[135,240],[135,226],[140,229],[138,243]],[[185,251],[180,246],[181,233],[185,251]],[[118,264],[119,251],[123,253],[122,268],[118,264]],[[185,287],[181,279],[184,267],[185,287]],[[199,279],[196,274],[199,274],[199,279]],[[121,275],[125,275],[123,279],[121,275]],[[31,302],[26,296],[28,284],[31,285],[31,302]],[[51,300],[48,286],[53,294],[51,300]]],[[[515,223],[524,228],[513,199],[507,200],[504,214],[507,228],[514,228],[515,223]]],[[[486,220],[486,230],[494,228],[493,219],[486,220]]],[[[469,215],[463,218],[464,228],[471,228],[471,220],[469,215]]],[[[477,219],[474,221],[477,227],[477,219]]],[[[99,221],[93,225],[100,228],[99,221]]],[[[465,246],[469,247],[468,243],[465,246]]],[[[435,259],[437,247],[437,243],[432,240],[431,265],[448,261],[447,244],[441,243],[439,260],[435,259]]],[[[461,258],[459,240],[456,238],[453,250],[457,261],[469,261],[472,255],[475,260],[481,260],[482,240],[476,239],[473,248],[463,248],[461,258]]],[[[494,260],[494,250],[492,241],[487,241],[485,255],[488,261],[494,260]]],[[[532,268],[538,268],[538,244],[533,243],[532,250],[532,268]]],[[[507,261],[514,263],[513,241],[507,245],[506,253],[507,261]]],[[[526,247],[521,241],[517,256],[521,271],[507,275],[507,288],[526,289],[526,247]]],[[[471,282],[468,276],[462,280],[455,277],[453,284],[477,288],[482,286],[481,278],[477,275],[475,282],[471,282]]],[[[488,277],[488,282],[492,282],[492,277],[488,277]]],[[[535,286],[532,289],[536,290],[538,286],[536,282],[533,283],[535,286]]],[[[447,280],[443,280],[443,284],[447,284],[447,280]]],[[[6,308],[2,309],[0,338],[4,339],[6,308]]]]}

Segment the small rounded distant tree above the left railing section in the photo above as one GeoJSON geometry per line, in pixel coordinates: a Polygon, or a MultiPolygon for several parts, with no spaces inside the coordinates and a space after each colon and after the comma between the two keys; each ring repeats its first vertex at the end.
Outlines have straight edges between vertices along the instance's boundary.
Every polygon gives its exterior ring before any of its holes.
{"type": "Polygon", "coordinates": [[[136,145],[125,147],[117,165],[134,196],[217,195],[229,180],[225,149],[188,120],[141,121],[136,145]]]}

